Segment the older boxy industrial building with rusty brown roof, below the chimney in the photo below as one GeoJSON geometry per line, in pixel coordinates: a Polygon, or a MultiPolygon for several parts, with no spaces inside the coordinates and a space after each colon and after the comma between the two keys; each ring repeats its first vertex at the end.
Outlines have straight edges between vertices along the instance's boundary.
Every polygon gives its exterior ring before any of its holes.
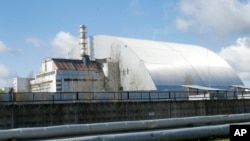
{"type": "Polygon", "coordinates": [[[35,79],[30,81],[32,92],[102,91],[104,75],[96,62],[84,65],[82,60],[44,59],[35,79]]]}

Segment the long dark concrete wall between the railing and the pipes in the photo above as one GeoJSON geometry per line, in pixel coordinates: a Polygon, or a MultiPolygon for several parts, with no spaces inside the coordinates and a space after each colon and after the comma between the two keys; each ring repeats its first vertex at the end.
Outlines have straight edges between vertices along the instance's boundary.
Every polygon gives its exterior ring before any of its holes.
{"type": "Polygon", "coordinates": [[[250,113],[250,100],[0,105],[0,129],[250,113]]]}

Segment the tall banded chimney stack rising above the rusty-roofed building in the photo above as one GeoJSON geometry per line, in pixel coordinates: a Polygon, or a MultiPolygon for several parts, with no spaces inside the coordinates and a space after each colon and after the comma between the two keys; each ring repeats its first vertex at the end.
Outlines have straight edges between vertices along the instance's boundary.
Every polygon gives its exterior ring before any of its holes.
{"type": "Polygon", "coordinates": [[[86,26],[80,25],[80,55],[83,60],[83,64],[88,64],[89,56],[87,54],[87,47],[86,47],[86,26]]]}

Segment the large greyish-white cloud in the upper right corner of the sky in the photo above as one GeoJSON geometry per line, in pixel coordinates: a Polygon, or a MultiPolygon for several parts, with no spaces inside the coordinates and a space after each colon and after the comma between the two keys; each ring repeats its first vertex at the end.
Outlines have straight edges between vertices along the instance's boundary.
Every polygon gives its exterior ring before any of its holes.
{"type": "Polygon", "coordinates": [[[250,32],[250,2],[239,0],[181,0],[175,26],[186,31],[218,34],[250,32]]]}

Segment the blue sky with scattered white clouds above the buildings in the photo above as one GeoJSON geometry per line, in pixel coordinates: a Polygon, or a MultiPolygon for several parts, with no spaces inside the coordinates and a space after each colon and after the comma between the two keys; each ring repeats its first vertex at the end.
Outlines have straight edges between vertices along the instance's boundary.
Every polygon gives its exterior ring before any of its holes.
{"type": "Polygon", "coordinates": [[[206,47],[250,80],[249,0],[1,0],[0,87],[38,72],[88,35],[113,35],[206,47]]]}

